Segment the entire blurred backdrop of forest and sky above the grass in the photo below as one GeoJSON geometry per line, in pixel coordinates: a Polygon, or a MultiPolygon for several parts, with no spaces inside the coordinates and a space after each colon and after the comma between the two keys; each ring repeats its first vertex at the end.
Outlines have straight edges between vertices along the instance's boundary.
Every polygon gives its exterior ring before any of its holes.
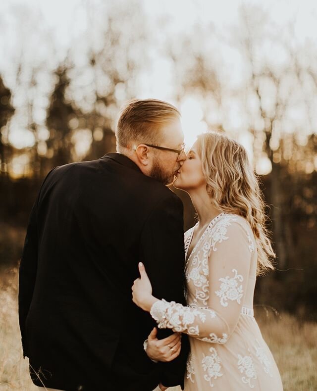
{"type": "Polygon", "coordinates": [[[277,253],[255,306],[316,322],[316,26],[313,1],[1,2],[2,283],[46,174],[114,151],[120,106],[152,97],[179,107],[187,147],[215,130],[247,148],[277,253]]]}

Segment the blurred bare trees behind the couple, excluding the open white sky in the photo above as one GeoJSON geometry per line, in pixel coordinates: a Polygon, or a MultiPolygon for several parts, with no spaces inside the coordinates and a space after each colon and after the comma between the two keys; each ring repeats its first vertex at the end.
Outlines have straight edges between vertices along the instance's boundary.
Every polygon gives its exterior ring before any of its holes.
{"type": "MultiPolygon", "coordinates": [[[[48,171],[115,150],[119,107],[142,94],[155,45],[172,70],[176,104],[196,99],[201,123],[251,147],[277,253],[277,270],[258,281],[256,303],[316,318],[317,45],[297,43],[291,26],[272,28],[260,8],[242,7],[239,15],[226,34],[196,25],[156,41],[142,8],[126,3],[107,9],[98,45],[86,41],[84,59],[71,48],[53,69],[43,61],[26,70],[21,57],[11,89],[0,75],[1,264],[17,263],[48,171]]],[[[194,210],[177,194],[188,229],[194,210]]]]}

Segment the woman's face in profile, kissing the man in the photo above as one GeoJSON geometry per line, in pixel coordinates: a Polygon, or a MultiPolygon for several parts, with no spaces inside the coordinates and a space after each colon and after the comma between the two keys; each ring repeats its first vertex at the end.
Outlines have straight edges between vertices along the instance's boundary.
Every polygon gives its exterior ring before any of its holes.
{"type": "Polygon", "coordinates": [[[187,153],[187,158],[178,172],[173,183],[176,189],[189,192],[191,190],[197,190],[200,187],[206,188],[202,161],[198,154],[198,141],[196,141],[187,153]]]}

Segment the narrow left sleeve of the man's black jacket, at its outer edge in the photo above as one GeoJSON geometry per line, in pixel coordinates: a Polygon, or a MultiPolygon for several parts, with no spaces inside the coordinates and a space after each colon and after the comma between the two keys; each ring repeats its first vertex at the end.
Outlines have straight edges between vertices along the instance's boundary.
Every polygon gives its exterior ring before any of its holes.
{"type": "Polygon", "coordinates": [[[43,186],[53,170],[45,178],[33,205],[19,267],[19,325],[22,338],[23,357],[28,356],[25,321],[32,301],[38,261],[37,207],[43,186]]]}

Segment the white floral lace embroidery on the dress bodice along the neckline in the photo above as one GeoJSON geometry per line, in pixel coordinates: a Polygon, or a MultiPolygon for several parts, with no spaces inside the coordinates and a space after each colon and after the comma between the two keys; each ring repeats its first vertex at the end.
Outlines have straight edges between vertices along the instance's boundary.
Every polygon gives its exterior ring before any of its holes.
{"type": "MultiPolygon", "coordinates": [[[[203,305],[208,304],[209,300],[209,254],[211,249],[216,251],[216,244],[221,243],[224,240],[227,240],[227,227],[231,225],[232,221],[237,219],[232,214],[223,214],[219,215],[219,220],[217,220],[214,225],[211,225],[210,229],[206,230],[204,234],[205,237],[209,238],[203,245],[202,252],[199,250],[197,254],[191,260],[191,264],[186,264],[185,267],[185,277],[187,283],[190,281],[193,282],[195,290],[195,298],[193,299],[194,303],[198,303],[198,300],[203,303],[203,305]],[[189,266],[191,270],[188,270],[189,266]]],[[[189,231],[188,231],[189,232],[189,231]]],[[[191,234],[191,232],[189,232],[191,234]]],[[[187,236],[187,235],[186,235],[187,236]]],[[[189,237],[186,238],[185,243],[189,246],[189,237]]],[[[199,242],[198,242],[199,243],[199,242]]],[[[194,255],[197,245],[192,251],[194,255]]],[[[189,260],[189,258],[188,258],[189,260]]]]}

